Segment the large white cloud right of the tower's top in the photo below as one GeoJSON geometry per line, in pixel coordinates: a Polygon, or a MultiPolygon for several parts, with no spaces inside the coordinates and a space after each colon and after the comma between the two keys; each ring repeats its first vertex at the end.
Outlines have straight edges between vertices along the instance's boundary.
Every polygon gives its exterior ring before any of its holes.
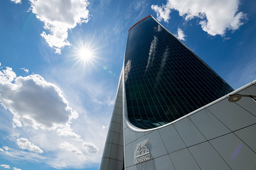
{"type": "Polygon", "coordinates": [[[208,34],[223,36],[227,30],[235,31],[247,19],[246,14],[238,12],[239,0],[167,0],[162,7],[152,5],[157,20],[168,22],[172,10],[179,11],[186,20],[200,19],[199,24],[208,34]]]}

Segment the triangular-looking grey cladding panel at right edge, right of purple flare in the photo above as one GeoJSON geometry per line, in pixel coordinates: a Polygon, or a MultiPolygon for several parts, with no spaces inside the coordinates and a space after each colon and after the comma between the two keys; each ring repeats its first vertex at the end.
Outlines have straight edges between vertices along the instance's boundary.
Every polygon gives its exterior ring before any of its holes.
{"type": "MultiPolygon", "coordinates": [[[[255,104],[256,105],[256,104],[255,104]]],[[[256,124],[237,130],[234,133],[247,144],[254,152],[256,152],[256,124]]]]}

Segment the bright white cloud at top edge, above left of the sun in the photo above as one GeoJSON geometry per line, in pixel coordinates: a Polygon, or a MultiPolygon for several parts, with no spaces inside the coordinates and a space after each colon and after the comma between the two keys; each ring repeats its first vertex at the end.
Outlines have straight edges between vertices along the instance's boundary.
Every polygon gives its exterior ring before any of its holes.
{"type": "Polygon", "coordinates": [[[67,41],[68,30],[90,20],[89,11],[86,9],[90,3],[87,0],[30,0],[30,3],[30,10],[49,32],[43,32],[41,36],[56,50],[55,53],[61,54],[61,48],[71,46],[67,41]]]}

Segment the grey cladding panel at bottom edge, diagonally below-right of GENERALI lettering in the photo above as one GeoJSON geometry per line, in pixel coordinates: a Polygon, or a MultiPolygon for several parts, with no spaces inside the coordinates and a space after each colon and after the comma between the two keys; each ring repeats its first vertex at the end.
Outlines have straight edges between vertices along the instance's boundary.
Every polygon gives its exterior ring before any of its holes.
{"type": "Polygon", "coordinates": [[[153,162],[157,170],[175,170],[168,154],[153,159],[153,162]]]}

